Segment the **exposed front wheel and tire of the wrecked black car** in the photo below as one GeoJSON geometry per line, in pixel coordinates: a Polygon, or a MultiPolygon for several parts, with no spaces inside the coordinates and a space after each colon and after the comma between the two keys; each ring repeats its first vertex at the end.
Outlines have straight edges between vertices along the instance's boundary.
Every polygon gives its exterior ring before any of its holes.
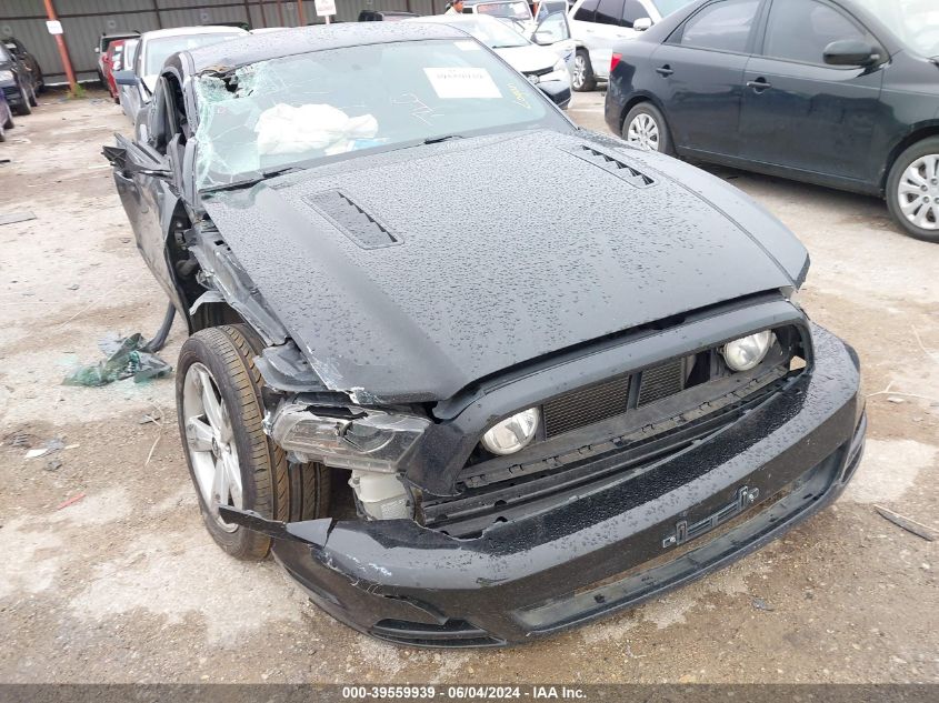
{"type": "Polygon", "coordinates": [[[263,380],[253,362],[262,348],[246,324],[209,328],[183,343],[177,370],[180,436],[202,520],[216,543],[241,560],[263,559],[271,540],[221,520],[219,495],[224,494],[227,504],[281,521],[291,512],[300,519],[321,518],[329,496],[327,469],[293,466],[299,476],[293,480],[299,491],[294,504],[302,508],[291,511],[291,470],[263,428],[263,380]]]}

